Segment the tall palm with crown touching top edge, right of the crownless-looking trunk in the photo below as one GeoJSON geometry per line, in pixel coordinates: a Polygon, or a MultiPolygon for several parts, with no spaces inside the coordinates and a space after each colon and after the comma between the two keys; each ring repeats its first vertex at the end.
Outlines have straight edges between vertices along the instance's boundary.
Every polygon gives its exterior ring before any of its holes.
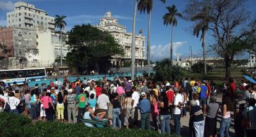
{"type": "MultiPolygon", "coordinates": [[[[166,0],[160,0],[165,3],[166,0]]],[[[153,9],[153,0],[140,0],[138,4],[138,10],[140,14],[148,14],[148,38],[147,38],[147,59],[148,59],[148,77],[150,77],[150,28],[151,28],[151,11],[153,9]]]]}

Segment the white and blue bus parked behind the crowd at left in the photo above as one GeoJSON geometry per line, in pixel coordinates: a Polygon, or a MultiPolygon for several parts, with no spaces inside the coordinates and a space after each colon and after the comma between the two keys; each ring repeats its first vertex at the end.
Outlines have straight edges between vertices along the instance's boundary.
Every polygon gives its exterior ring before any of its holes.
{"type": "Polygon", "coordinates": [[[17,82],[22,85],[25,81],[37,81],[46,78],[45,68],[22,68],[13,70],[0,70],[0,82],[10,83],[17,82]]]}

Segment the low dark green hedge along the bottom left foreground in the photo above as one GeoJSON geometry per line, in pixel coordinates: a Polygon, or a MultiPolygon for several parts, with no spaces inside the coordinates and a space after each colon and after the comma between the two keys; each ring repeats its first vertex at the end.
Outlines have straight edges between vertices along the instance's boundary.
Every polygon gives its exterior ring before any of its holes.
{"type": "Polygon", "coordinates": [[[19,137],[47,137],[47,136],[171,136],[160,135],[156,131],[147,130],[113,130],[111,128],[88,128],[82,123],[69,124],[59,122],[32,122],[23,115],[15,115],[6,112],[0,113],[0,136],[19,136],[19,137]]]}

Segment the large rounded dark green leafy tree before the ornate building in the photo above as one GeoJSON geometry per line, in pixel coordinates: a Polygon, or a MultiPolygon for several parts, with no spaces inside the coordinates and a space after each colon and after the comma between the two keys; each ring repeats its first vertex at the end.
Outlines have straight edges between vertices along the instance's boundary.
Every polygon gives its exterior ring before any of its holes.
{"type": "Polygon", "coordinates": [[[69,67],[75,68],[79,73],[95,70],[106,73],[112,66],[113,56],[122,56],[124,51],[108,31],[88,25],[75,25],[69,31],[70,52],[66,61],[69,67]]]}

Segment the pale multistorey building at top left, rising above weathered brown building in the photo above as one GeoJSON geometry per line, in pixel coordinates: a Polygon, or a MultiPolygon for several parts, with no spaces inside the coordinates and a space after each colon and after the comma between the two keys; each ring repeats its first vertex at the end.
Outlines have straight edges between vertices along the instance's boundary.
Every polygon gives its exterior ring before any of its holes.
{"type": "Polygon", "coordinates": [[[48,16],[45,10],[37,9],[27,2],[15,2],[14,11],[7,12],[7,27],[54,30],[54,17],[48,16]]]}

